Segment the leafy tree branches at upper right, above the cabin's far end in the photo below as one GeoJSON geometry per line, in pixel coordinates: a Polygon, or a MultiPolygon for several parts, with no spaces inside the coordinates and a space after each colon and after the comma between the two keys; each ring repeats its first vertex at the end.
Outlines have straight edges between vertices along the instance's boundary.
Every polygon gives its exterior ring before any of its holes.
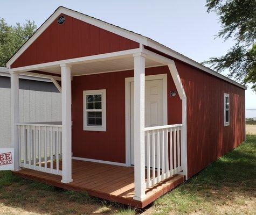
{"type": "Polygon", "coordinates": [[[206,8],[219,17],[222,30],[217,37],[233,39],[235,44],[225,55],[203,63],[220,72],[228,69],[229,77],[252,83],[256,91],[256,1],[206,0],[206,8]]]}

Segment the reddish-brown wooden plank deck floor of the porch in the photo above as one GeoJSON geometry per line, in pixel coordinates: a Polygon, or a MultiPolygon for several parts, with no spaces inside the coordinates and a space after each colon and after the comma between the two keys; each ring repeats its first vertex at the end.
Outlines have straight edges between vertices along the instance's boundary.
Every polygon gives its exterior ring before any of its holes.
{"type": "Polygon", "coordinates": [[[146,190],[142,202],[134,200],[134,168],[110,164],[72,160],[73,182],[61,183],[61,176],[31,169],[22,169],[15,174],[32,178],[67,190],[87,191],[89,195],[143,208],[172,188],[184,182],[184,176],[175,175],[169,180],[146,190]]]}

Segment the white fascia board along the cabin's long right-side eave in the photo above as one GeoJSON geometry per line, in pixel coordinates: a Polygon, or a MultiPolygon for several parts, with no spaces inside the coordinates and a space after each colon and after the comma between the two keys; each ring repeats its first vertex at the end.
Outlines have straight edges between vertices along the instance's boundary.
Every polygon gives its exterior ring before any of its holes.
{"type": "Polygon", "coordinates": [[[215,70],[212,70],[212,69],[210,69],[208,67],[205,67],[202,64],[200,64],[200,63],[198,63],[198,62],[196,62],[196,61],[194,61],[194,60],[192,60],[192,59],[190,59],[190,58],[188,58],[188,57],[186,57],[186,56],[184,56],[184,55],[182,55],[182,54],[180,54],[178,52],[175,52],[171,48],[168,48],[168,47],[166,47],[166,46],[164,46],[162,44],[159,44],[158,42],[156,42],[154,40],[148,39],[148,45],[147,46],[149,46],[151,48],[154,48],[157,51],[160,51],[160,52],[162,52],[164,54],[167,54],[167,55],[171,56],[172,58],[175,58],[175,59],[178,59],[178,60],[180,60],[182,62],[188,63],[191,66],[196,67],[196,68],[198,68],[200,70],[203,70],[206,73],[209,73],[209,74],[211,74],[213,76],[221,78],[224,81],[227,81],[227,82],[230,82],[230,83],[232,83],[234,85],[237,85],[240,88],[243,88],[245,90],[247,89],[244,85],[239,84],[238,82],[233,81],[230,78],[228,78],[228,77],[226,77],[226,76],[224,76],[222,74],[217,73],[215,70]]]}

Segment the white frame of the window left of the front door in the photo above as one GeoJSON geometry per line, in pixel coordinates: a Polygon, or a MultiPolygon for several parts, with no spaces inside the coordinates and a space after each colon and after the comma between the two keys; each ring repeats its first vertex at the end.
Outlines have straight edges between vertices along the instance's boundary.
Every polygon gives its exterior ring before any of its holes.
{"type": "Polygon", "coordinates": [[[84,90],[83,91],[84,99],[84,131],[107,131],[106,129],[106,89],[102,90],[84,90]],[[93,94],[101,94],[101,112],[102,112],[102,125],[101,126],[88,126],[87,125],[87,112],[95,110],[86,109],[86,96],[93,94]]]}

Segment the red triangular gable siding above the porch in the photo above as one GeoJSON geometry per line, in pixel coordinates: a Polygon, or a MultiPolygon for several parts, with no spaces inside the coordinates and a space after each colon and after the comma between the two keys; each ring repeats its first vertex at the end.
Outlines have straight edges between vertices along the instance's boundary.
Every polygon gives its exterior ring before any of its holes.
{"type": "Polygon", "coordinates": [[[137,42],[79,19],[63,16],[65,23],[59,25],[54,20],[11,64],[11,68],[139,48],[137,42]]]}

